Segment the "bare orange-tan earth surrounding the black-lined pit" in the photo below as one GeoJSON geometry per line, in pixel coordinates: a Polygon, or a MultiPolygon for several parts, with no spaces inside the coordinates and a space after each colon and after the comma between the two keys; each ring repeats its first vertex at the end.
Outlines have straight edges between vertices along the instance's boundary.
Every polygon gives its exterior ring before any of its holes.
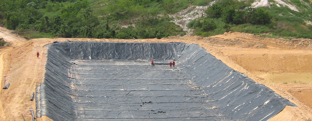
{"type": "MultiPolygon", "coordinates": [[[[0,37],[5,38],[2,33],[7,31],[1,28],[0,37]]],[[[9,34],[8,36],[15,36],[9,34]]],[[[308,39],[294,39],[285,41],[283,39],[264,38],[253,34],[246,33],[225,33],[213,37],[197,36],[171,36],[162,39],[142,39],[142,40],[118,40],[118,39],[33,39],[25,41],[17,38],[13,41],[19,41],[20,46],[7,47],[7,54],[2,56],[1,88],[10,83],[7,90],[1,89],[0,100],[0,120],[6,121],[23,121],[22,115],[26,120],[31,120],[30,107],[35,108],[35,101],[30,101],[32,92],[35,92],[36,85],[40,85],[44,78],[46,48],[53,41],[110,41],[110,42],[186,42],[198,43],[212,55],[216,56],[222,62],[237,70],[245,73],[251,79],[258,83],[264,84],[274,90],[298,107],[287,106],[282,112],[273,117],[272,121],[306,121],[312,119],[312,110],[308,106],[311,102],[310,83],[306,84],[278,84],[268,83],[268,78],[264,74],[312,74],[310,63],[312,60],[312,49],[308,39]],[[36,53],[40,56],[37,58],[36,53]],[[5,60],[3,59],[6,58],[5,60]],[[3,64],[4,63],[4,64],[3,64]],[[2,71],[3,70],[3,71],[2,71]]],[[[6,39],[5,39],[6,40],[6,39]]],[[[3,48],[1,48],[3,49],[3,48]]],[[[37,118],[37,121],[51,120],[47,117],[37,118]]]]}

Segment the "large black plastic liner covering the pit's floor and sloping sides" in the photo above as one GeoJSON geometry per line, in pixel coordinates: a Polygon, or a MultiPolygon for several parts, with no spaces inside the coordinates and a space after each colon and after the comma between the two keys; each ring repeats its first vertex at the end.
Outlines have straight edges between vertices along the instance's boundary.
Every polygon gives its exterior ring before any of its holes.
{"type": "Polygon", "coordinates": [[[260,121],[295,106],[196,44],[66,42],[47,47],[37,117],[260,121]],[[176,65],[152,66],[151,59],[176,60],[176,65]]]}

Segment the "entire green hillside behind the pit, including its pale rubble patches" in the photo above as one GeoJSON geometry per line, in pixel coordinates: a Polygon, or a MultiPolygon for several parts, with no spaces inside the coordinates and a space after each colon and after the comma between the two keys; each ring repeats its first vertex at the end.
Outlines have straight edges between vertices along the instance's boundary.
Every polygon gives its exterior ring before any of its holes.
{"type": "Polygon", "coordinates": [[[27,39],[160,39],[228,31],[311,39],[311,7],[310,0],[1,0],[0,26],[27,39]]]}

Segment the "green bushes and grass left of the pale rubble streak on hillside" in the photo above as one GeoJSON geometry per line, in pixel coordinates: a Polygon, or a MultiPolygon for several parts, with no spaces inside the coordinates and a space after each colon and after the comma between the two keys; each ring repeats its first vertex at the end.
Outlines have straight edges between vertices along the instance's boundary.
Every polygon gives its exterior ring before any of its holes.
{"type": "Polygon", "coordinates": [[[164,10],[168,14],[186,8],[184,0],[90,2],[93,5],[97,2],[99,6],[95,7],[104,5],[106,9],[103,13],[94,12],[99,8],[90,6],[87,0],[3,0],[0,4],[1,25],[16,30],[25,38],[143,39],[185,34],[181,27],[170,22],[173,18],[158,16],[164,10]],[[133,23],[134,26],[121,27],[133,23]]]}

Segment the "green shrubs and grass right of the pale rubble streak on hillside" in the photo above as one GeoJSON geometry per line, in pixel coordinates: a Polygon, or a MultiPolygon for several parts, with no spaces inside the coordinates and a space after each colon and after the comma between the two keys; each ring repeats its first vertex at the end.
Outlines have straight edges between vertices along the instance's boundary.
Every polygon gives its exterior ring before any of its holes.
{"type": "MultiPolygon", "coordinates": [[[[311,3],[310,3],[311,4],[311,3]]],[[[195,29],[199,36],[211,36],[223,34],[228,31],[246,33],[270,33],[273,36],[312,38],[312,25],[306,25],[305,21],[312,21],[312,9],[296,12],[288,7],[252,8],[248,2],[223,0],[213,4],[206,11],[207,17],[193,20],[188,27],[195,29]],[[246,8],[248,7],[248,8],[246,8]],[[202,23],[212,18],[217,23],[217,28],[209,31],[202,29],[202,23]]],[[[311,5],[310,5],[311,6],[311,5]]],[[[301,7],[306,7],[301,5],[301,7]]]]}

